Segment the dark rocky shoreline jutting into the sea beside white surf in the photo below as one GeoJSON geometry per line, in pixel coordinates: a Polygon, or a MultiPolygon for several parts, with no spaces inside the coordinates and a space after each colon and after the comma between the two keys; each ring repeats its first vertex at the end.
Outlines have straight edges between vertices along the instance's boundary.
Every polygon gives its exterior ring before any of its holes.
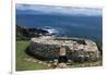
{"type": "Polygon", "coordinates": [[[16,39],[31,39],[32,37],[39,37],[43,35],[50,35],[49,32],[39,28],[27,28],[16,25],[16,39]]]}

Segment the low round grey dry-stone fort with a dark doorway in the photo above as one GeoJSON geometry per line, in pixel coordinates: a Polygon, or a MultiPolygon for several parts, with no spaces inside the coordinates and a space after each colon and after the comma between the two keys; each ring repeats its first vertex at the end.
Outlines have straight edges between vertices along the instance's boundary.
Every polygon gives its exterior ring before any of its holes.
{"type": "Polygon", "coordinates": [[[62,47],[66,50],[64,53],[68,60],[84,62],[95,61],[99,58],[99,50],[94,41],[68,37],[41,36],[32,38],[29,52],[45,60],[55,60],[63,54],[60,52],[62,47]]]}

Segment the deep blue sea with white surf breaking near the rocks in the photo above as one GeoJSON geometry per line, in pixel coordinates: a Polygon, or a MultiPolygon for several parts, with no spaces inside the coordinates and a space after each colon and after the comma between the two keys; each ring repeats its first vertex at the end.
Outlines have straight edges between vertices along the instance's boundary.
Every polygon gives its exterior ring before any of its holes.
{"type": "Polygon", "coordinates": [[[16,14],[16,24],[44,28],[57,36],[102,39],[102,17],[86,15],[16,14]]]}

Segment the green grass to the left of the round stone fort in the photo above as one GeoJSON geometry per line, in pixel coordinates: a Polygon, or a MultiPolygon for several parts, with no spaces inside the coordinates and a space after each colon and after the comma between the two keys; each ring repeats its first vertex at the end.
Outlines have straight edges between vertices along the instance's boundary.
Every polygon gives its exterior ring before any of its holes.
{"type": "Polygon", "coordinates": [[[47,65],[24,60],[29,58],[33,59],[32,57],[25,53],[25,50],[28,47],[28,40],[16,41],[16,71],[47,70],[47,65]]]}

